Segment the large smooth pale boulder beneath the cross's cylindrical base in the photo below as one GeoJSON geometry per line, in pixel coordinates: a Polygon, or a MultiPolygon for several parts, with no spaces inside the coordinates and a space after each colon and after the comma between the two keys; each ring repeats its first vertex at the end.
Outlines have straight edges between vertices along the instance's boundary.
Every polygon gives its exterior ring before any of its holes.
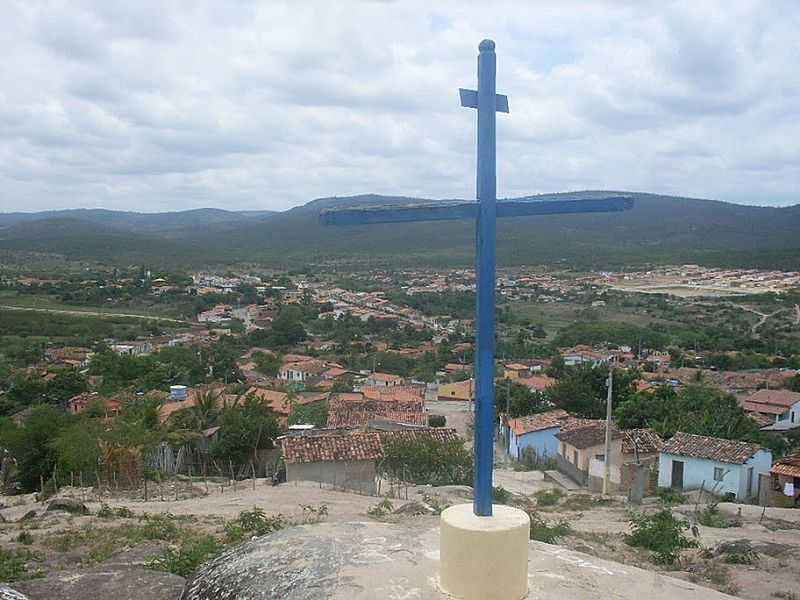
{"type": "MultiPolygon", "coordinates": [[[[204,565],[181,600],[443,600],[439,520],[294,527],[204,565]]],[[[528,598],[730,599],[715,590],[538,542],[528,546],[528,598]]],[[[487,598],[487,600],[490,600],[487,598]]]]}

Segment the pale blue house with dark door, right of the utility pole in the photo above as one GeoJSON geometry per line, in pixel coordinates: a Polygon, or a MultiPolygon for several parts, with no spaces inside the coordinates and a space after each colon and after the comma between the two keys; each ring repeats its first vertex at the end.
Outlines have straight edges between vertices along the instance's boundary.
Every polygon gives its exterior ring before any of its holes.
{"type": "Polygon", "coordinates": [[[759,477],[771,465],[772,453],[757,444],[678,432],[659,455],[658,487],[703,486],[746,499],[758,494],[759,477]]]}

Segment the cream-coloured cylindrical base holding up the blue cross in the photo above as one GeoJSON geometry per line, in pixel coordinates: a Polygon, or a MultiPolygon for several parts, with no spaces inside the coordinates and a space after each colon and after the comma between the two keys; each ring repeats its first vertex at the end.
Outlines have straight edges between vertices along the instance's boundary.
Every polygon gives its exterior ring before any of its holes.
{"type": "Polygon", "coordinates": [[[464,600],[520,600],[528,593],[531,520],[518,508],[495,504],[478,517],[471,504],[451,506],[440,528],[442,589],[464,600]]]}

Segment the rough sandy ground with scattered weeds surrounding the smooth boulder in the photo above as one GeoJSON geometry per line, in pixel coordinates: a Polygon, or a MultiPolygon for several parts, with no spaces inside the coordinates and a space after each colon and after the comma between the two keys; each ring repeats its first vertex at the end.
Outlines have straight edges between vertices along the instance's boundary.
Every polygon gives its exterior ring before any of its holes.
{"type": "MultiPolygon", "coordinates": [[[[762,515],[759,507],[720,504],[721,520],[733,526],[698,525],[702,547],[684,551],[677,566],[662,566],[653,564],[649,552],[624,542],[631,508],[655,511],[660,508],[655,499],[631,507],[621,498],[545,498],[542,490],[553,484],[539,472],[502,469],[495,480],[508,491],[504,501],[531,506],[538,502],[535,510],[545,524],[556,529],[566,525],[558,530],[557,542],[563,547],[742,598],[800,598],[800,511],[771,508],[762,515]],[[730,542],[746,552],[719,550],[730,542]]],[[[314,484],[272,487],[256,480],[239,482],[235,490],[210,484],[207,495],[205,484],[195,487],[191,499],[168,500],[167,492],[163,501],[156,494],[157,499],[148,502],[137,494],[106,493],[98,501],[92,490],[64,490],[79,504],[85,499],[89,514],[46,511],[47,504],[32,495],[0,497],[0,581],[15,580],[15,589],[31,600],[83,598],[88,590],[93,600],[173,600],[201,562],[198,557],[213,556],[251,537],[254,530],[237,519],[243,511],[252,517],[247,511],[253,507],[263,510],[259,532],[320,521],[413,526],[420,520],[435,521],[431,514],[469,501],[471,493],[459,486],[411,487],[400,490],[399,499],[381,503],[314,484]],[[270,518],[278,514],[283,515],[280,520],[270,518]]],[[[673,511],[696,521],[696,508],[689,503],[673,511]]],[[[5,600],[2,593],[0,599],[5,600]]]]}

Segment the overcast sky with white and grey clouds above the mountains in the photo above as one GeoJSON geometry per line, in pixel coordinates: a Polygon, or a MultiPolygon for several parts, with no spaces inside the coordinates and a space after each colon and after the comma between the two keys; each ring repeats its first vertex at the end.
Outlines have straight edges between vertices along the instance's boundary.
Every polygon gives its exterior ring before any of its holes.
{"type": "Polygon", "coordinates": [[[473,197],[484,37],[499,195],[800,202],[796,0],[2,4],[2,211],[473,197]]]}

